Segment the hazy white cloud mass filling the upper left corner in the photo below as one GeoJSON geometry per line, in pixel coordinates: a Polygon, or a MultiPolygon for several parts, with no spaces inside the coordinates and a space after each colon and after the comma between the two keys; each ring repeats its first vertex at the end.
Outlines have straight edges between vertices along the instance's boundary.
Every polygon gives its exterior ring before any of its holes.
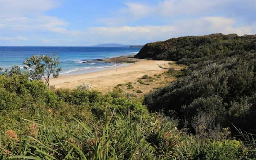
{"type": "MultiPolygon", "coordinates": [[[[40,32],[51,31],[60,34],[79,35],[79,31],[68,30],[62,19],[44,15],[57,7],[53,0],[1,0],[1,32],[40,32]]],[[[18,33],[17,33],[18,34],[18,33]]]]}

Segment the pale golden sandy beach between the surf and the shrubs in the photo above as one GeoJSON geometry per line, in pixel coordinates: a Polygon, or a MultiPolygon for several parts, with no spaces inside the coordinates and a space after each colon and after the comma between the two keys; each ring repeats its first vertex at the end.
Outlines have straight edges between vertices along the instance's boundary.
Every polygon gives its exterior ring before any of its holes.
{"type": "MultiPolygon", "coordinates": [[[[145,74],[148,74],[149,76],[154,74],[161,74],[164,71],[167,71],[167,69],[161,68],[160,66],[168,66],[168,63],[173,63],[173,61],[139,59],[139,61],[132,63],[129,66],[124,66],[120,68],[73,76],[59,76],[58,78],[50,79],[50,83],[51,85],[55,86],[56,89],[72,89],[82,84],[90,84],[92,86],[92,89],[106,93],[113,90],[113,88],[117,84],[126,82],[137,82],[137,80],[145,74]]],[[[184,68],[177,65],[169,66],[174,67],[177,70],[184,68]]],[[[175,79],[169,79],[169,81],[173,80],[175,79]]],[[[151,89],[153,87],[154,86],[151,86],[151,89]]]]}

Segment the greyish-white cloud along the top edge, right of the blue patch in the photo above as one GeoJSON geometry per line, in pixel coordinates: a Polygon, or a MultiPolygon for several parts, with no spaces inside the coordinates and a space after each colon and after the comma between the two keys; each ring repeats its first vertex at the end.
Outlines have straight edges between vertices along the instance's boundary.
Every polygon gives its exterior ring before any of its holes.
{"type": "MultiPolygon", "coordinates": [[[[205,17],[212,15],[230,14],[234,17],[244,15],[248,4],[255,4],[253,0],[159,0],[156,4],[127,2],[126,6],[113,14],[112,17],[101,18],[107,25],[126,25],[128,22],[138,21],[147,17],[158,17],[164,22],[173,22],[179,17],[205,17]],[[236,6],[236,8],[234,8],[236,6]],[[235,11],[234,11],[235,10],[235,11]]],[[[253,7],[250,6],[249,10],[253,7]]],[[[255,11],[255,7],[253,8],[255,11]]],[[[248,17],[248,16],[247,16],[248,17]]],[[[243,17],[243,19],[246,17],[243,17]]]]}

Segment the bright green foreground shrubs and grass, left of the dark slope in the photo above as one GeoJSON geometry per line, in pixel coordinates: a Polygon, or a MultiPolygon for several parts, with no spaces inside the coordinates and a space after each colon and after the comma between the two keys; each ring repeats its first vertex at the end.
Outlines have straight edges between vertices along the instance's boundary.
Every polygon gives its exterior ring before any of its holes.
{"type": "MultiPolygon", "coordinates": [[[[207,158],[220,152],[216,146],[232,150],[234,159],[244,156],[241,149],[247,154],[241,142],[238,147],[229,147],[221,138],[214,143],[202,138],[199,143],[195,136],[178,130],[177,120],[149,114],[134,99],[83,86],[49,90],[25,74],[0,75],[0,90],[0,159],[185,160],[207,158]]],[[[119,87],[116,90],[121,92],[119,87]]]]}

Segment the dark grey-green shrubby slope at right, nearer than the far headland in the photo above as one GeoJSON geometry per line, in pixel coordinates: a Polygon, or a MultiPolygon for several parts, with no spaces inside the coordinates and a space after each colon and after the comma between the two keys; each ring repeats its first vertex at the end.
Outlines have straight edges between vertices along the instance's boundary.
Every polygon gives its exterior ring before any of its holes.
{"type": "Polygon", "coordinates": [[[154,111],[175,110],[180,119],[186,117],[189,122],[195,113],[210,113],[225,128],[234,129],[234,123],[252,133],[256,102],[249,99],[256,94],[255,53],[242,52],[224,62],[204,63],[207,66],[147,94],[144,104],[154,111]]]}

